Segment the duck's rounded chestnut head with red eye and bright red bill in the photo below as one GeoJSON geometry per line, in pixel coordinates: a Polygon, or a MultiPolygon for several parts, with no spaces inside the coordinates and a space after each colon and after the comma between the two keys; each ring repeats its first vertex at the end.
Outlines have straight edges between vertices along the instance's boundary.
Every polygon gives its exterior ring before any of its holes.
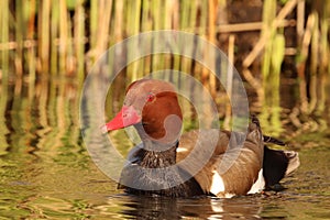
{"type": "Polygon", "coordinates": [[[105,128],[112,131],[134,125],[142,140],[174,143],[178,140],[182,121],[174,86],[162,80],[141,79],[128,87],[122,109],[105,128]]]}

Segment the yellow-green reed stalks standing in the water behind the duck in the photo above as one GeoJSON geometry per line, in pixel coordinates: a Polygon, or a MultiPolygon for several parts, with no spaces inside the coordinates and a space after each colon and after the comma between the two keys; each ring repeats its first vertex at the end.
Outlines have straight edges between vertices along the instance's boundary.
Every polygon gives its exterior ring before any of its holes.
{"type": "MultiPolygon", "coordinates": [[[[258,111],[264,113],[264,120],[280,128],[282,65],[285,56],[292,55],[297,57],[299,112],[322,112],[324,84],[330,74],[330,2],[265,0],[262,21],[235,24],[228,23],[230,3],[226,0],[1,0],[1,84],[14,82],[15,92],[20,94],[24,84],[32,91],[36,81],[57,77],[74,79],[81,88],[92,64],[110,46],[129,36],[155,30],[198,34],[224,48],[234,62],[237,56],[242,56],[233,53],[235,34],[261,30],[258,42],[252,45],[250,54],[242,57],[242,64],[237,65],[242,66],[244,79],[255,89],[258,106],[263,107],[258,111]],[[306,10],[306,4],[311,8],[310,11],[306,10]],[[286,20],[289,14],[296,15],[286,20]],[[285,29],[293,25],[296,26],[297,43],[296,47],[288,48],[285,29]],[[229,52],[228,33],[232,35],[229,52]],[[252,74],[251,67],[258,63],[260,72],[252,74]]],[[[157,44],[157,38],[150,42],[153,46],[157,44]]],[[[138,45],[131,46],[135,48],[138,45]]],[[[118,54],[130,57],[134,52],[118,54]]],[[[205,56],[210,56],[212,65],[217,66],[217,59],[207,51],[205,56]]],[[[114,59],[109,57],[111,68],[116,68],[114,59]]],[[[179,55],[157,54],[132,63],[120,76],[120,86],[165,68],[191,74],[209,88],[212,96],[218,96],[219,82],[215,75],[179,55]]],[[[114,92],[113,100],[116,96],[119,95],[114,92]]]]}

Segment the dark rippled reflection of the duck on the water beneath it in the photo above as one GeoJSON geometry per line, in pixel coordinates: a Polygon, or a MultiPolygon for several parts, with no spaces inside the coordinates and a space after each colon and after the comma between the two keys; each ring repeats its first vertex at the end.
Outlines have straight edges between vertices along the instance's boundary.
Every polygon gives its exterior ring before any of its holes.
{"type": "Polygon", "coordinates": [[[138,219],[230,219],[242,217],[250,219],[257,218],[261,212],[260,204],[254,198],[130,197],[130,202],[127,202],[125,206],[128,208],[122,213],[138,219]]]}

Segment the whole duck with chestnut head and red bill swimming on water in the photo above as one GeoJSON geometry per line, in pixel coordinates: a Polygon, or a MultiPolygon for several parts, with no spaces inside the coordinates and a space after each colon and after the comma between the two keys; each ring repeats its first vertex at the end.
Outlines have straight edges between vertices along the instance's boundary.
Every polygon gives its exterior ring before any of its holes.
{"type": "Polygon", "coordinates": [[[270,189],[299,166],[297,152],[266,146],[284,143],[263,135],[255,116],[245,134],[220,129],[182,134],[178,96],[164,80],[133,81],[120,112],[102,130],[127,127],[142,141],[121,172],[119,188],[129,194],[231,198],[270,189]]]}

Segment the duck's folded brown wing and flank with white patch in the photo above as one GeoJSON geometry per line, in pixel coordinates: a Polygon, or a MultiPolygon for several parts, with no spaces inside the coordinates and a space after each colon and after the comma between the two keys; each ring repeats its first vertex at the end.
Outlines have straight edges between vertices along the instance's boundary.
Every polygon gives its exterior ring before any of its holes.
{"type": "Polygon", "coordinates": [[[184,134],[177,163],[188,170],[205,193],[245,195],[257,179],[263,163],[263,141],[258,124],[251,123],[245,135],[220,130],[191,131],[184,134]],[[223,180],[215,188],[215,175],[223,180]],[[219,188],[220,187],[220,188],[219,188]]]}

